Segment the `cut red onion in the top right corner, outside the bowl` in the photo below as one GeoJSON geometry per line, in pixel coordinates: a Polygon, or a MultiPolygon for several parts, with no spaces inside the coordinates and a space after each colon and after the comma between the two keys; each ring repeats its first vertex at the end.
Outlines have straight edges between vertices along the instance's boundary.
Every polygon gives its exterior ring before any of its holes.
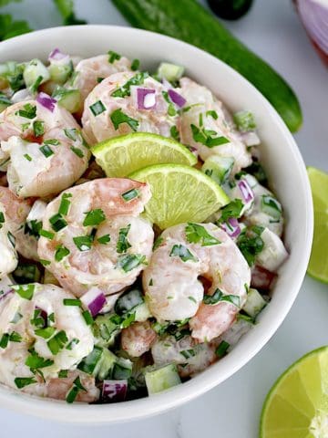
{"type": "Polygon", "coordinates": [[[313,46],[328,64],[328,3],[322,0],[297,0],[296,5],[313,46]]]}

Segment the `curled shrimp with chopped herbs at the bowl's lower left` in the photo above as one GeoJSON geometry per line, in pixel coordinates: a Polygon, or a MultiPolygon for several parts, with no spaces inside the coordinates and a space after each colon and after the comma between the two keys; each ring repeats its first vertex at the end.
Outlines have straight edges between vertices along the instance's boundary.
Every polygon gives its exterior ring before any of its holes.
{"type": "Polygon", "coordinates": [[[0,350],[0,381],[12,388],[23,381],[22,391],[46,396],[49,380],[60,370],[75,370],[92,351],[92,331],[81,309],[65,304],[74,297],[64,289],[37,283],[13,288],[0,303],[0,333],[7,338],[0,350]]]}

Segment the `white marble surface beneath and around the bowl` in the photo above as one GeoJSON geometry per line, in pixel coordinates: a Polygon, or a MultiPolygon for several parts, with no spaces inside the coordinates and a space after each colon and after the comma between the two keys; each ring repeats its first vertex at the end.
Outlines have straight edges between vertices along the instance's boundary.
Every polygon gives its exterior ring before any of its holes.
{"type": "MultiPolygon", "coordinates": [[[[205,3],[205,2],[203,2],[205,3]]],[[[250,14],[229,24],[232,32],[268,60],[292,84],[301,99],[302,130],[295,136],[304,160],[328,171],[328,70],[304,34],[288,0],[255,0],[250,14]]],[[[90,23],[127,25],[109,0],[76,0],[77,15],[90,23]]],[[[50,0],[25,0],[6,6],[35,28],[57,26],[50,0]],[[33,6],[33,7],[32,7],[33,6]],[[35,15],[32,11],[37,11],[35,15]]],[[[108,42],[110,46],[110,42],[108,42]]],[[[0,45],[1,50],[1,45],[0,45]]],[[[282,157],[283,160],[283,157],[282,157]]],[[[295,194],[297,195],[297,194],[295,194]]],[[[261,405],[273,381],[292,361],[327,343],[328,287],[306,277],[292,311],[269,344],[219,387],[174,412],[142,422],[80,427],[47,422],[0,410],[1,436],[25,438],[254,438],[261,405]]]]}

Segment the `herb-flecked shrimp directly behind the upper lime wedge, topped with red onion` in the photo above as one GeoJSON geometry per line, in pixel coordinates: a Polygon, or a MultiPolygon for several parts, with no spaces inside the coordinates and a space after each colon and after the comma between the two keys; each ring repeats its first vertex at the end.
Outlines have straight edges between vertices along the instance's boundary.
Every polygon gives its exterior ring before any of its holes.
{"type": "Polygon", "coordinates": [[[87,141],[94,144],[135,130],[169,137],[177,120],[178,112],[159,81],[145,73],[124,72],[104,79],[87,96],[82,125],[87,141]],[[147,110],[138,104],[138,88],[149,91],[147,110]]]}

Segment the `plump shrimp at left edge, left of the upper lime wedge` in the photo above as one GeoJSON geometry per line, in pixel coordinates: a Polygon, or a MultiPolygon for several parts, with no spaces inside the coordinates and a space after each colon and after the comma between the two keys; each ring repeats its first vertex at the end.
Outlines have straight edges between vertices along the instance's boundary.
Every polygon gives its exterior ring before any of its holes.
{"type": "Polygon", "coordinates": [[[55,105],[52,112],[29,100],[8,107],[2,115],[0,158],[10,159],[7,179],[18,196],[59,193],[87,169],[90,152],[67,110],[55,105]]]}

